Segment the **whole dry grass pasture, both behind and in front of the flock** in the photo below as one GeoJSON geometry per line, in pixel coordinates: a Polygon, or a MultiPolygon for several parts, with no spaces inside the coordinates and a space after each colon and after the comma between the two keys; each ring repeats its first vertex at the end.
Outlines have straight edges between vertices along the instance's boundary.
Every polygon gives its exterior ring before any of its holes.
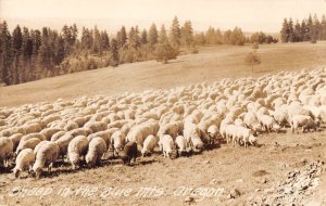
{"type": "MultiPolygon", "coordinates": [[[[126,64],[4,87],[0,88],[0,105],[11,107],[59,98],[71,100],[82,95],[140,92],[326,65],[326,42],[261,46],[262,64],[251,74],[251,68],[243,65],[243,57],[250,50],[250,46],[206,47],[199,54],[179,56],[166,65],[153,61],[126,64]]],[[[74,171],[70,164],[57,163],[52,172],[45,172],[41,179],[27,173],[16,179],[1,167],[0,206],[188,205],[185,198],[189,196],[195,198],[193,205],[260,205],[273,195],[285,198],[285,205],[291,204],[291,197],[300,199],[302,205],[326,204],[326,173],[322,164],[317,171],[309,169],[302,181],[296,179],[289,194],[277,191],[288,181],[289,172],[294,171],[300,177],[310,164],[326,162],[325,124],[314,132],[283,131],[260,134],[259,145],[249,149],[222,143],[221,147],[202,154],[175,159],[155,153],[138,158],[131,166],[123,166],[118,159],[105,159],[101,167],[74,171]],[[314,172],[318,172],[318,177],[314,172]],[[63,192],[63,188],[67,190],[63,192]],[[109,194],[108,188],[114,188],[114,192],[109,194]],[[142,188],[151,190],[137,195],[142,188]],[[30,192],[30,189],[37,189],[39,193],[30,192]],[[45,194],[41,189],[49,193],[45,194]],[[181,189],[202,191],[193,195],[181,189]],[[233,192],[235,189],[239,194],[233,192]],[[129,190],[128,194],[126,190],[129,190]],[[203,190],[222,190],[222,194],[209,196],[203,190]],[[30,193],[24,193],[26,191],[30,193]],[[309,195],[310,192],[313,194],[309,195]]]]}

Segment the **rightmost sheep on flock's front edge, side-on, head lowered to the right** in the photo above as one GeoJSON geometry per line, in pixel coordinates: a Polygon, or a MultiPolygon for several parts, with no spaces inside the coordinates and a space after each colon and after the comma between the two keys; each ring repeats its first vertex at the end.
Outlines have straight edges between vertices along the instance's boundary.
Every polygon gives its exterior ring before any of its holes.
{"type": "Polygon", "coordinates": [[[318,124],[312,119],[311,116],[308,115],[294,115],[292,117],[292,133],[294,133],[294,130],[297,130],[299,127],[302,127],[302,132],[314,129],[317,130],[318,124]]]}

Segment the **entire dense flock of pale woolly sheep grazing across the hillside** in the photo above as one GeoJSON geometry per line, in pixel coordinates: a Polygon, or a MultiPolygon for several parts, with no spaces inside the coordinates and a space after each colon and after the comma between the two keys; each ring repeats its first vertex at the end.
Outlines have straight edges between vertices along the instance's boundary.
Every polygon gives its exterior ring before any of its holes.
{"type": "Polygon", "coordinates": [[[254,145],[262,132],[317,130],[326,123],[326,69],[223,79],[171,90],[0,107],[0,164],[39,177],[53,163],[73,169],[103,155],[129,163],[156,146],[166,157],[216,142],[254,145]]]}

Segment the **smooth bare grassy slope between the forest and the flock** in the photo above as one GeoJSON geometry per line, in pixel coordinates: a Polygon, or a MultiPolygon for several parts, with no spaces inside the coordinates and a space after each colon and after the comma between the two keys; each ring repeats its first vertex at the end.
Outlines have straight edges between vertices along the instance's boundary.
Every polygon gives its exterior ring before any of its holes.
{"type": "MultiPolygon", "coordinates": [[[[59,98],[70,100],[82,95],[121,94],[146,89],[173,88],[195,82],[212,82],[226,77],[252,76],[243,64],[251,46],[221,46],[200,49],[199,54],[178,56],[170,64],[155,61],[100,68],[34,82],[0,88],[0,106],[15,106],[59,98]]],[[[264,44],[259,53],[262,64],[253,77],[279,70],[297,70],[326,65],[326,42],[264,44]]]]}

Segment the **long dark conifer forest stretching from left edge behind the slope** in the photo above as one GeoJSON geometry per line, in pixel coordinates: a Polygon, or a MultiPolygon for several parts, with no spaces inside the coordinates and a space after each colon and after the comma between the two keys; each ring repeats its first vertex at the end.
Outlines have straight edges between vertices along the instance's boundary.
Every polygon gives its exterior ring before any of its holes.
{"type": "Polygon", "coordinates": [[[262,31],[246,37],[239,27],[225,31],[210,27],[205,33],[195,34],[190,21],[180,25],[176,16],[168,29],[152,24],[143,30],[134,26],[127,31],[122,26],[115,35],[97,27],[83,27],[78,33],[75,24],[64,25],[61,30],[17,25],[11,33],[7,22],[0,23],[0,83],[16,85],[148,60],[167,63],[179,54],[197,53],[197,48],[205,44],[243,46],[278,41],[262,31]]]}

